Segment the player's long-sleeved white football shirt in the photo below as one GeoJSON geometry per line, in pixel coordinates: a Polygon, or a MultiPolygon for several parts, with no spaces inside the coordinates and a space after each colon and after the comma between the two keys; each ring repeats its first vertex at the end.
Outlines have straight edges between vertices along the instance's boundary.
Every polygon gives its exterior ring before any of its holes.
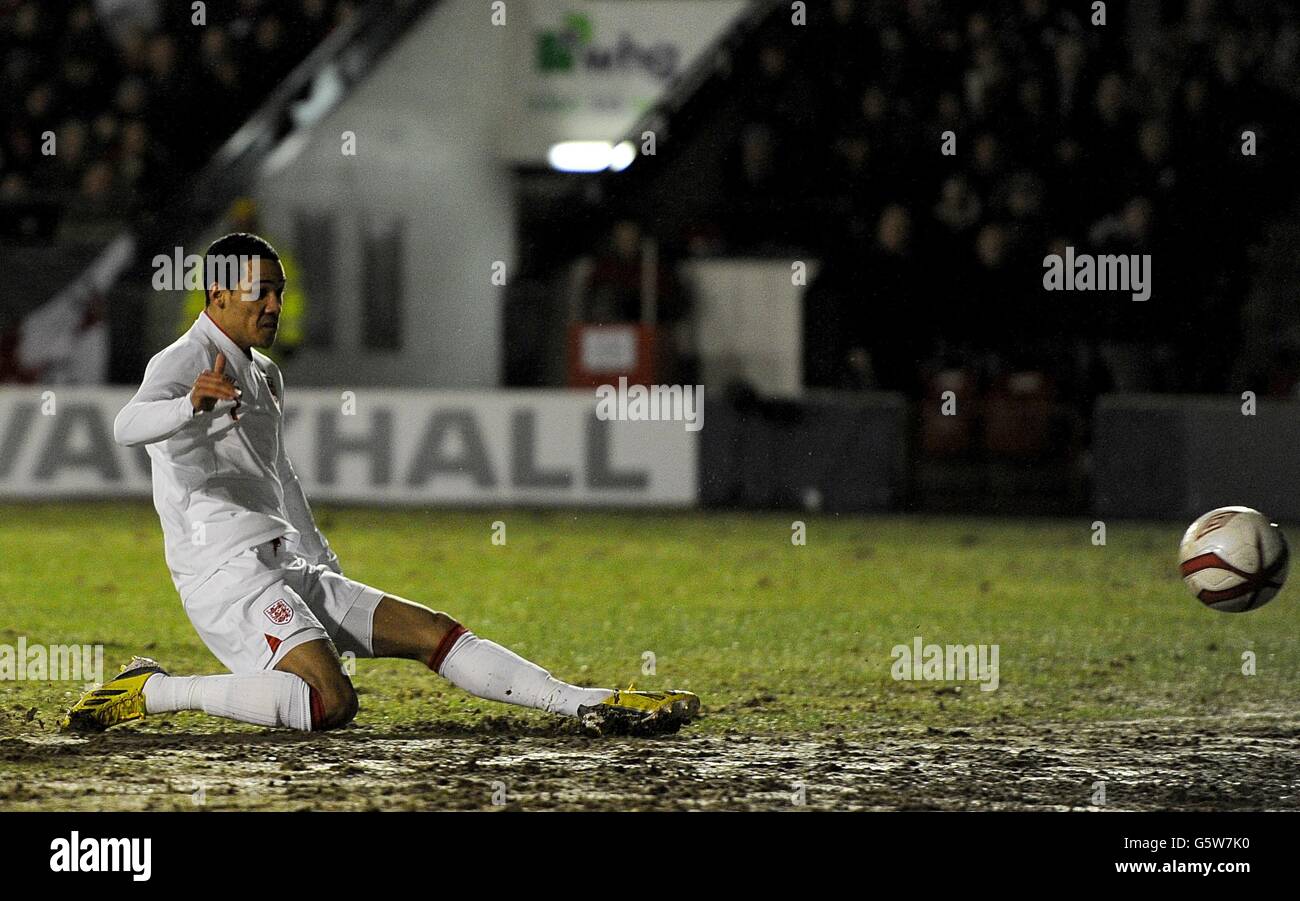
{"type": "Polygon", "coordinates": [[[153,507],[182,598],[230,558],[277,537],[309,563],[338,569],[285,452],[283,397],[280,367],[239,350],[204,311],[150,360],[139,391],[117,415],[114,439],[147,445],[153,507]],[[195,412],[194,380],[216,365],[218,352],[242,397],[195,412]]]}

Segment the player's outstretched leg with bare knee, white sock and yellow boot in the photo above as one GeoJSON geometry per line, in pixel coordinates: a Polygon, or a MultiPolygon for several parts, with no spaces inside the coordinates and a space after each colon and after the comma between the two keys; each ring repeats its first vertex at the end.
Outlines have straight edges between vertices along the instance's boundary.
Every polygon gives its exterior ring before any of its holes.
{"type": "Polygon", "coordinates": [[[473,696],[577,716],[593,733],[676,732],[699,712],[699,698],[690,692],[619,692],[560,681],[446,614],[402,598],[380,601],[372,634],[376,657],[421,660],[473,696]]]}

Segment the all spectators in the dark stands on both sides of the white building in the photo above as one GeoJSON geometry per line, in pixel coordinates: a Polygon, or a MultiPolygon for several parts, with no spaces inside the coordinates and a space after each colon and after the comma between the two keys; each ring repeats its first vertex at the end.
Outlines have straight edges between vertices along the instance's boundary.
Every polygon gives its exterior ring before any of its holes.
{"type": "MultiPolygon", "coordinates": [[[[108,238],[358,7],[231,5],[195,27],[191,4],[0,0],[0,209],[47,204],[58,239],[108,238]]],[[[632,225],[666,255],[820,260],[810,385],[918,397],[954,368],[984,385],[1032,371],[1080,408],[1105,390],[1218,390],[1240,352],[1248,247],[1295,199],[1278,148],[1300,139],[1300,12],[1108,7],[1095,25],[1091,4],[828,0],[794,40],[775,4],[725,77],[734,116],[701,120],[725,126],[708,213],[671,220],[677,234],[632,225]],[[1153,20],[1130,27],[1139,12],[1153,20]],[[1152,299],[1043,291],[1044,255],[1067,246],[1150,254],[1152,299]]],[[[598,319],[611,299],[636,306],[636,255],[610,260],[586,290],[598,319]]],[[[662,312],[689,316],[671,299],[662,312]]]]}

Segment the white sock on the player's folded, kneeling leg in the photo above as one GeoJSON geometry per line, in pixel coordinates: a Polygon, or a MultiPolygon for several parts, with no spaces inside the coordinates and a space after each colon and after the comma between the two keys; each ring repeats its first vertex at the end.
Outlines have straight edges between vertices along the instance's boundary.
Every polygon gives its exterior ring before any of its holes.
{"type": "Polygon", "coordinates": [[[291,672],[266,670],[229,676],[165,676],[144,683],[144,710],[202,710],[257,725],[312,728],[311,686],[291,672]]]}

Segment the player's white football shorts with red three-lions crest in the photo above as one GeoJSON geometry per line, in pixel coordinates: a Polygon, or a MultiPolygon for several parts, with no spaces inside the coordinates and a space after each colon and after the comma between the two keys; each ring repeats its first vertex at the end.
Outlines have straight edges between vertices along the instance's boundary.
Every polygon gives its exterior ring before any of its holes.
{"type": "Polygon", "coordinates": [[[384,592],[313,566],[281,538],[233,556],[182,598],[185,612],[230,672],[270,670],[304,641],[373,657],[374,608],[384,592]]]}

